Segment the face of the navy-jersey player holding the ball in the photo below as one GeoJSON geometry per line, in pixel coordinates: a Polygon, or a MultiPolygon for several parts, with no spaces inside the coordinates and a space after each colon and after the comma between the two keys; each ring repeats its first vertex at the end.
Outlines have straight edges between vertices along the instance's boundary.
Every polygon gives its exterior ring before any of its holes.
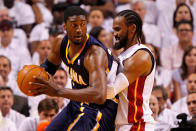
{"type": "Polygon", "coordinates": [[[87,30],[87,20],[84,15],[70,16],[66,23],[68,39],[74,44],[81,44],[85,41],[87,30]]]}

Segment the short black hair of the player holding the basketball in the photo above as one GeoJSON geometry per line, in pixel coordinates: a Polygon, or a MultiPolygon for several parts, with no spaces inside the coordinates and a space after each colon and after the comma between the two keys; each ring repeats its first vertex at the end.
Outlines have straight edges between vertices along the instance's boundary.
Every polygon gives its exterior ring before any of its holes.
{"type": "Polygon", "coordinates": [[[64,12],[64,22],[66,23],[68,18],[74,15],[84,15],[87,19],[87,13],[84,9],[80,8],[79,6],[70,6],[64,12]]]}

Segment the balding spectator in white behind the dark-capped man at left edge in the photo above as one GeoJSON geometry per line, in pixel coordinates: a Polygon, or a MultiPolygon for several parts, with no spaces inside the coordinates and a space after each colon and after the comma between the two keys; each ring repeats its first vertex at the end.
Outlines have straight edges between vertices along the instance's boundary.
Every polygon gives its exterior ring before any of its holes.
{"type": "MultiPolygon", "coordinates": [[[[11,21],[11,17],[9,16],[8,9],[6,7],[0,7],[0,22],[2,20],[11,21]]],[[[13,21],[11,22],[14,24],[13,21]]],[[[14,38],[20,41],[20,46],[27,48],[27,36],[22,29],[14,28],[14,38]]]]}

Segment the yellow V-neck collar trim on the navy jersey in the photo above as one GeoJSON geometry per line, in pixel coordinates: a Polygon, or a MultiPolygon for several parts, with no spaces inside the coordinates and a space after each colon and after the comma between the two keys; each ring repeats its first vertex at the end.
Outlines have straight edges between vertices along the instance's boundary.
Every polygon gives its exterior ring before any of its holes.
{"type": "Polygon", "coordinates": [[[81,54],[81,52],[84,50],[84,47],[86,46],[86,42],[87,42],[87,40],[88,40],[88,38],[89,38],[89,35],[86,34],[86,37],[87,37],[87,38],[86,38],[86,40],[85,40],[85,42],[84,42],[82,48],[79,50],[79,52],[78,52],[71,60],[69,60],[69,58],[68,58],[68,48],[69,48],[69,40],[68,40],[68,42],[67,42],[67,47],[66,47],[66,50],[65,50],[65,57],[66,57],[67,62],[68,62],[69,64],[73,64],[74,61],[78,58],[78,56],[81,54]]]}

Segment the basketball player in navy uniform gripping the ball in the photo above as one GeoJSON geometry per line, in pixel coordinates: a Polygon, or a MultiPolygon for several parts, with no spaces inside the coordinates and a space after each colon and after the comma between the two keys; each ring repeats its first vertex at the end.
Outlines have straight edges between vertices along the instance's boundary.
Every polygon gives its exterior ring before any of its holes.
{"type": "Polygon", "coordinates": [[[117,111],[114,100],[106,100],[106,72],[112,67],[113,57],[105,46],[86,34],[87,15],[80,7],[65,11],[67,35],[58,37],[48,59],[41,65],[54,75],[63,61],[72,89],[57,88],[52,78],[45,81],[36,77],[32,83],[35,95],[47,94],[70,99],[70,103],[51,122],[46,131],[112,131],[117,111]]]}

